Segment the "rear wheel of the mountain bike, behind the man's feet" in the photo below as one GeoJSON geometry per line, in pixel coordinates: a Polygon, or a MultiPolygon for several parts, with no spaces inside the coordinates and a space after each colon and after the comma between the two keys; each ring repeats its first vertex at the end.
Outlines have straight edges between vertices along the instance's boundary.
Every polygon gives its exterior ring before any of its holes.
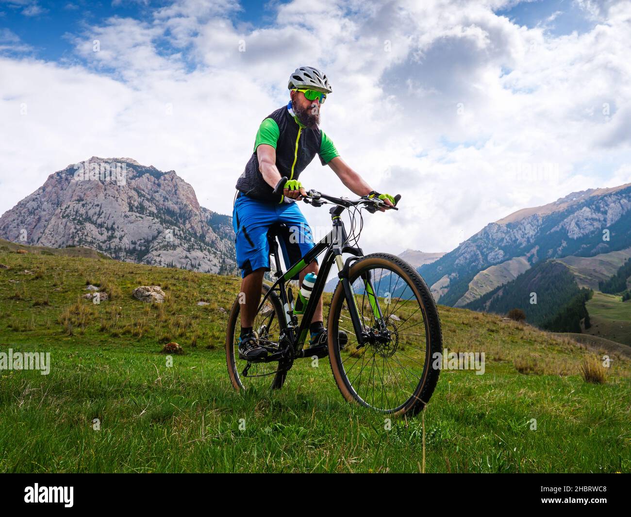
{"type": "MultiPolygon", "coordinates": [[[[269,291],[269,285],[263,284],[262,295],[269,291]]],[[[271,292],[266,302],[254,317],[253,329],[259,336],[259,342],[270,350],[278,350],[280,331],[286,327],[283,305],[280,297],[271,292]]],[[[240,304],[239,297],[232,304],[232,310],[228,317],[228,330],[226,335],[226,361],[228,375],[232,386],[237,390],[242,389],[280,389],[285,383],[287,372],[280,368],[278,361],[252,362],[239,357],[240,304]]]]}

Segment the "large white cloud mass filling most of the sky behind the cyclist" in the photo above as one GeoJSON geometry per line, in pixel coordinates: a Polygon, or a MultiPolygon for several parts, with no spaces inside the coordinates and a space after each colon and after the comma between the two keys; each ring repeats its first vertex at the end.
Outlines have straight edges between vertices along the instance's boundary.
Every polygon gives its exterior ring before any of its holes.
{"type": "MultiPolygon", "coordinates": [[[[230,213],[256,128],[301,64],[333,82],[322,128],[342,157],[403,194],[398,213],[367,215],[365,251],[449,251],[511,211],[628,179],[630,3],[583,2],[598,25],[561,37],[493,13],[508,4],[295,0],[257,28],[235,25],[232,1],[179,1],[71,36],[85,67],[0,59],[0,211],[98,155],[174,169],[230,213]]],[[[302,181],[343,193],[317,162],[302,181]]]]}

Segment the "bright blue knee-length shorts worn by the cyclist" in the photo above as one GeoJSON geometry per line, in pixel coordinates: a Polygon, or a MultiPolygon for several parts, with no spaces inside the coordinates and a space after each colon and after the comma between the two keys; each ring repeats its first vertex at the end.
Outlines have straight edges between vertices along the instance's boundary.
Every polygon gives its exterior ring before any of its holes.
{"type": "MultiPolygon", "coordinates": [[[[232,211],[232,227],[237,235],[237,265],[245,277],[263,268],[269,271],[268,230],[284,223],[278,241],[283,252],[285,270],[297,263],[314,247],[313,235],[298,203],[266,203],[240,194],[232,211]]],[[[296,275],[293,280],[297,280],[296,275]]]]}

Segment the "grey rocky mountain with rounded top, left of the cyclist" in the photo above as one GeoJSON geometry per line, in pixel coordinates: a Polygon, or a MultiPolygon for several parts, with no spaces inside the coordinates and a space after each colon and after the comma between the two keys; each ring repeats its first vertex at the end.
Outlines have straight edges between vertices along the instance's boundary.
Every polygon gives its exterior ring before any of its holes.
{"type": "Polygon", "coordinates": [[[50,174],[0,218],[0,237],[85,246],[127,262],[236,270],[232,218],[199,206],[192,186],[131,158],[91,157],[50,174]]]}

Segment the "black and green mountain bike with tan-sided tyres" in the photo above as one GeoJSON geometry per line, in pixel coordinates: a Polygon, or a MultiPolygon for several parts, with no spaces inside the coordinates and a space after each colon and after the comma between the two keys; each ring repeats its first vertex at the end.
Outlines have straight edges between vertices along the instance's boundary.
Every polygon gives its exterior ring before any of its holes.
{"type": "MultiPolygon", "coordinates": [[[[281,181],[274,193],[281,194],[283,185],[281,181]]],[[[395,205],[400,198],[394,198],[395,205]]],[[[434,354],[442,354],[442,333],[432,294],[415,268],[391,254],[364,255],[358,246],[362,210],[375,213],[386,203],[375,198],[336,198],[315,190],[309,190],[304,201],[316,207],[333,205],[329,210],[333,229],[286,272],[281,270],[276,242],[281,229],[269,230],[276,280],[272,285],[263,283],[253,326],[268,356],[257,362],[240,359],[243,300],[237,296],[226,337],[233,387],[237,391],[280,389],[296,359],[328,355],[333,377],[346,400],[382,413],[415,415],[427,404],[439,378],[440,361],[434,360],[434,354]],[[350,215],[350,234],[341,218],[345,211],[350,215]],[[290,280],[322,253],[312,294],[298,321],[290,280]],[[304,348],[309,323],[333,264],[339,280],[329,307],[328,343],[304,348]]]]}

